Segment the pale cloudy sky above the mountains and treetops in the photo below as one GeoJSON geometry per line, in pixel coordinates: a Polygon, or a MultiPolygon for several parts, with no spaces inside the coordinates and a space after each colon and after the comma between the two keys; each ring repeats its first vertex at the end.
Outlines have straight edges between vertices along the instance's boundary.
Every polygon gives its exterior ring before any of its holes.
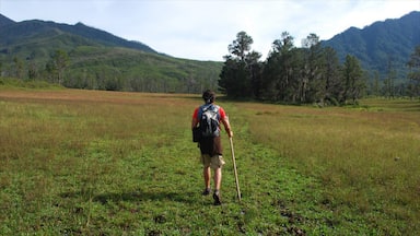
{"type": "Polygon", "coordinates": [[[327,40],[411,11],[420,0],[0,0],[0,13],[15,22],[81,22],[173,57],[212,61],[224,60],[242,31],[265,59],[282,32],[300,47],[312,33],[327,40]]]}

